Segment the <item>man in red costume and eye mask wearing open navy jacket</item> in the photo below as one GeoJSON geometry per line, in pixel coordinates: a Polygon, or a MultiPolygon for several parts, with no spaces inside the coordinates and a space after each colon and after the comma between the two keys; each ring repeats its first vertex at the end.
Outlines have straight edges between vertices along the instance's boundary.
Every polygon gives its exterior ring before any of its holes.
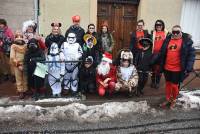
{"type": "Polygon", "coordinates": [[[166,80],[166,101],[161,107],[173,109],[179,94],[179,84],[193,70],[195,49],[189,34],[183,33],[179,25],[172,28],[172,34],[166,37],[161,51],[161,69],[166,80]]]}

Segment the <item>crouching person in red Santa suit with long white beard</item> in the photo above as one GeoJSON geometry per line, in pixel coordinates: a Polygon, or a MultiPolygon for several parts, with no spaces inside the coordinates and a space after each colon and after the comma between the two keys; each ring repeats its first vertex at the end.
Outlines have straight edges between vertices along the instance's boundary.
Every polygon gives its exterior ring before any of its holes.
{"type": "Polygon", "coordinates": [[[96,81],[100,96],[104,96],[106,92],[109,95],[114,92],[117,82],[116,67],[112,65],[112,55],[108,52],[104,53],[97,67],[96,81]]]}

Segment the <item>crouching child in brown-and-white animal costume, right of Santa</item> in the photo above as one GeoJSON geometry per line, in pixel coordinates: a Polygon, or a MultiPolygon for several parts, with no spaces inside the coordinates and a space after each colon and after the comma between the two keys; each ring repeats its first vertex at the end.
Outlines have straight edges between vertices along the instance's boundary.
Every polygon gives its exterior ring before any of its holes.
{"type": "Polygon", "coordinates": [[[128,91],[131,96],[138,84],[138,73],[133,65],[133,54],[130,50],[120,53],[120,66],[117,67],[116,91],[128,91]]]}

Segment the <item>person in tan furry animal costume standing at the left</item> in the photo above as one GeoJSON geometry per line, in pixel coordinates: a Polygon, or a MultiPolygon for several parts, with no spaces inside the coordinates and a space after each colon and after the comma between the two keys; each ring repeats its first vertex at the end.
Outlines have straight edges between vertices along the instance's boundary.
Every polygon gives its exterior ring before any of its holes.
{"type": "Polygon", "coordinates": [[[23,99],[25,97],[25,92],[27,91],[27,77],[24,72],[24,55],[26,53],[27,44],[23,40],[22,33],[16,33],[15,41],[11,46],[10,51],[10,62],[11,66],[14,68],[17,91],[19,93],[19,98],[23,99]]]}

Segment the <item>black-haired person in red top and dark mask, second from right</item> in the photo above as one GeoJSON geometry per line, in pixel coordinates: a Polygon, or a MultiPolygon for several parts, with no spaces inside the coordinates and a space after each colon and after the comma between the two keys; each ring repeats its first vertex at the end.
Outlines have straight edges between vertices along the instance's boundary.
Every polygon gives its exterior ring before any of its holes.
{"type": "MultiPolygon", "coordinates": [[[[152,53],[153,57],[157,57],[163,41],[165,40],[168,32],[165,29],[165,23],[162,20],[156,20],[154,30],[152,31],[152,40],[153,40],[153,47],[152,53]]],[[[153,74],[151,76],[151,88],[159,88],[160,78],[162,74],[160,73],[160,65],[158,63],[152,66],[153,74]]]]}

